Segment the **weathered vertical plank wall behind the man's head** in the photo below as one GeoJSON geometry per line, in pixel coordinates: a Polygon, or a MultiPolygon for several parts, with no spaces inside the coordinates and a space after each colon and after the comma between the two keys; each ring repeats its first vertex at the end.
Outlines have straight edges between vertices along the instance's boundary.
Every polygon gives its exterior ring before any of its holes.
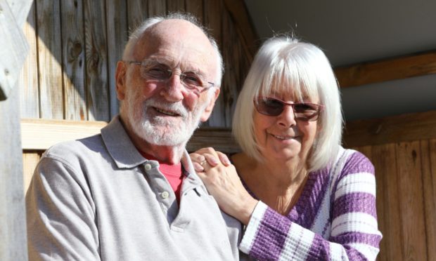
{"type": "Polygon", "coordinates": [[[205,125],[231,126],[255,50],[245,44],[247,29],[234,13],[241,6],[223,0],[35,0],[24,28],[30,55],[20,79],[22,117],[110,121],[118,112],[115,66],[129,30],[150,16],[186,11],[210,28],[226,68],[222,95],[205,125]]]}

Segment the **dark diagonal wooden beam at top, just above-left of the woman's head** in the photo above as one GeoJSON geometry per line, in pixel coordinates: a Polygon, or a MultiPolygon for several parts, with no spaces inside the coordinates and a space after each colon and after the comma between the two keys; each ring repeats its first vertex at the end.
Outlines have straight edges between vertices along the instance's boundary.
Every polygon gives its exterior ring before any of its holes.
{"type": "Polygon", "coordinates": [[[252,25],[250,15],[243,0],[224,0],[224,6],[231,16],[233,27],[239,34],[245,55],[252,61],[259,49],[259,36],[252,25]]]}

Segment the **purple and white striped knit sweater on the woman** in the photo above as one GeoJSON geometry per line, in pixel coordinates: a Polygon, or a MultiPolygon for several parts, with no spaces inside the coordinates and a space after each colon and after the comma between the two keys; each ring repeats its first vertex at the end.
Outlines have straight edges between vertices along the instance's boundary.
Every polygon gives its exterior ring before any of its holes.
{"type": "Polygon", "coordinates": [[[376,260],[381,238],[373,165],[341,147],[332,166],[309,173],[288,215],[259,201],[239,248],[257,260],[376,260]]]}

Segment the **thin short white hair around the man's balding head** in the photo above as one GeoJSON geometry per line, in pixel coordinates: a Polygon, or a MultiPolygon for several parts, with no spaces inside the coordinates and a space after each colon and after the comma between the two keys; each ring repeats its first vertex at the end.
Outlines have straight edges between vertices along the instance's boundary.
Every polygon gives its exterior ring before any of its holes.
{"type": "Polygon", "coordinates": [[[136,29],[134,29],[134,31],[130,34],[129,41],[127,41],[126,47],[124,48],[124,52],[122,54],[122,60],[132,60],[134,46],[139,41],[139,39],[141,39],[141,36],[146,33],[147,29],[150,29],[151,27],[153,27],[153,25],[156,25],[164,20],[172,19],[186,20],[188,22],[191,22],[193,25],[200,28],[205,36],[207,36],[207,39],[209,39],[210,44],[214,48],[215,56],[217,59],[217,72],[214,79],[214,84],[217,87],[221,86],[222,74],[224,73],[224,65],[222,55],[219,52],[217,41],[215,41],[215,39],[207,32],[205,27],[203,27],[203,25],[198,22],[198,19],[189,13],[169,13],[169,15],[165,17],[155,16],[153,18],[148,18],[147,20],[144,20],[141,25],[136,27],[136,29]]]}

